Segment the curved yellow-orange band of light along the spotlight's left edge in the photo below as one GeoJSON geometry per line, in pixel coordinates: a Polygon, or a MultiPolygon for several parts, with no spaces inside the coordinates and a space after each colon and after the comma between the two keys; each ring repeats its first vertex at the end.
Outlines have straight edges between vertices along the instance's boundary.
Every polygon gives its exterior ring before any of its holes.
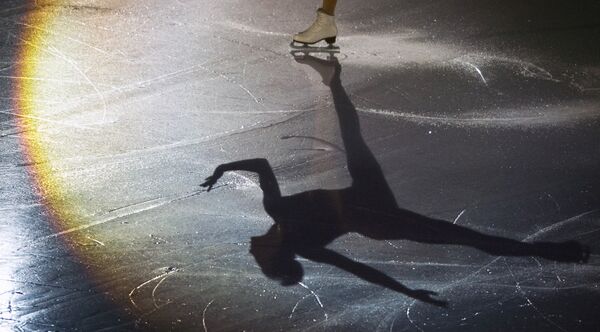
{"type": "MultiPolygon", "coordinates": [[[[42,127],[47,125],[47,120],[40,115],[40,110],[47,104],[41,101],[40,96],[47,82],[39,77],[46,69],[43,67],[44,59],[48,57],[48,49],[53,42],[51,31],[60,6],[56,1],[49,7],[39,8],[38,5],[31,4],[31,10],[21,21],[22,32],[16,37],[20,47],[13,82],[13,109],[21,132],[20,144],[29,177],[53,228],[59,232],[81,223],[82,218],[76,211],[73,197],[69,197],[66,184],[56,174],[52,148],[43,137],[42,127]]],[[[73,234],[70,240],[78,241],[80,236],[73,234]]]]}

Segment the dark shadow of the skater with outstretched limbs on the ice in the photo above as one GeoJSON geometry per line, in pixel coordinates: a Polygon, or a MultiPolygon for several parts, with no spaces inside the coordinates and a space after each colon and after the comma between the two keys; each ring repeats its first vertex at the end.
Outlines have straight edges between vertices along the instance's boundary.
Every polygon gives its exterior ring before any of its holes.
{"type": "Polygon", "coordinates": [[[275,224],[253,237],[250,252],[263,273],[292,285],[303,277],[296,256],[330,264],[373,284],[438,306],[446,302],[436,293],[413,290],[365,264],[349,259],[326,246],[334,239],[356,232],[376,240],[407,239],[432,244],[456,244],[498,256],[537,256],[560,262],[585,262],[589,249],[575,241],[526,243],[486,235],[398,207],[379,163],[364,142],[356,109],[341,84],[341,65],[336,58],[322,60],[306,55],[296,61],[317,70],[331,88],[352,185],[339,190],[311,190],[282,196],[266,159],[240,160],[219,165],[202,186],[210,191],[227,171],[249,171],[259,176],[263,205],[275,224]]]}

